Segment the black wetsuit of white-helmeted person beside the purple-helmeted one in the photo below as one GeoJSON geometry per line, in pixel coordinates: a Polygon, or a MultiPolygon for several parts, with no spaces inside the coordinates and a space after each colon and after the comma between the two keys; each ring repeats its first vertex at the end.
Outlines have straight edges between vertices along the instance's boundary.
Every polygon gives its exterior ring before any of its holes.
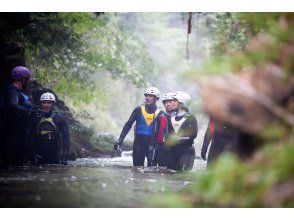
{"type": "MultiPolygon", "coordinates": [[[[29,145],[31,162],[37,164],[61,163],[62,157],[67,157],[70,145],[69,129],[64,117],[57,112],[34,117],[29,127],[29,145]],[[42,118],[50,116],[56,125],[56,135],[50,140],[44,140],[38,133],[38,125],[42,118]]],[[[64,162],[66,162],[66,158],[64,162]]]]}

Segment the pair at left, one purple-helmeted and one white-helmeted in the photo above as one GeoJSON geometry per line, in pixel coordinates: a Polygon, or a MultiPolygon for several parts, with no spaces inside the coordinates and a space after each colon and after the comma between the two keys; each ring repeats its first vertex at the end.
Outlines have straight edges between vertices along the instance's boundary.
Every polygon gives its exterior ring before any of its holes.
{"type": "Polygon", "coordinates": [[[65,118],[54,111],[56,97],[43,92],[36,103],[26,93],[31,71],[16,66],[3,98],[1,144],[4,166],[67,164],[70,137],[65,118]]]}

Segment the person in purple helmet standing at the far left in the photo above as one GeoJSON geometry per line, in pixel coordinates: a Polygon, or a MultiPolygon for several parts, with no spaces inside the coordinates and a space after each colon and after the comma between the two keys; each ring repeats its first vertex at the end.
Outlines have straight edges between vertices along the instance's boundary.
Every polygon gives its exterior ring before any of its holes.
{"type": "Polygon", "coordinates": [[[3,160],[5,165],[23,165],[25,162],[26,134],[32,113],[31,97],[25,92],[31,72],[24,66],[11,71],[5,95],[5,124],[3,160]]]}

